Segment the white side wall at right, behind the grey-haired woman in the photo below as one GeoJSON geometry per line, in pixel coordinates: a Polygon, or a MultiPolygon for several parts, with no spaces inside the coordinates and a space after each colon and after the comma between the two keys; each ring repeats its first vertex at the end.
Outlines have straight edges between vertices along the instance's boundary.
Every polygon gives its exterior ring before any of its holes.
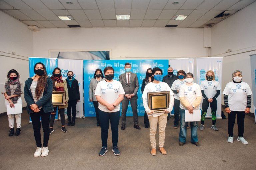
{"type": "MultiPolygon", "coordinates": [[[[256,54],[256,2],[243,8],[211,29],[211,56],[223,56],[222,90],[232,81],[232,72],[241,70],[243,81],[251,84],[250,56],[256,54]],[[231,49],[232,52],[225,53],[231,49]]],[[[224,102],[222,101],[222,104],[224,102]]],[[[251,112],[254,112],[251,109],[251,112]]]]}

